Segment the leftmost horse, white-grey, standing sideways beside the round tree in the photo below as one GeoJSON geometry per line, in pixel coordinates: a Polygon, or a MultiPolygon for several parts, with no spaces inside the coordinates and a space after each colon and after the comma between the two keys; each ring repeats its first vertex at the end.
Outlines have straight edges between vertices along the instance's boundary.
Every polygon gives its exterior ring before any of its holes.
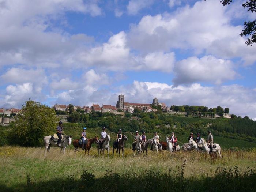
{"type": "MultiPolygon", "coordinates": [[[[45,144],[45,153],[46,151],[50,150],[51,145],[54,147],[59,147],[57,146],[57,142],[54,142],[51,140],[52,135],[48,135],[44,137],[44,144],[45,144]]],[[[65,153],[66,147],[71,144],[72,141],[72,135],[65,135],[63,136],[64,141],[60,142],[61,150],[65,153]]]]}

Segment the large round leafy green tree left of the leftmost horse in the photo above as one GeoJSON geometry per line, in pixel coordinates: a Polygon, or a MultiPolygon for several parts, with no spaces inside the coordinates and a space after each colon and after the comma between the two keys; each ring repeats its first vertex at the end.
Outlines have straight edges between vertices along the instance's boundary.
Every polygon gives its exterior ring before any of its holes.
{"type": "Polygon", "coordinates": [[[22,113],[15,116],[16,125],[12,134],[15,143],[21,146],[41,146],[43,138],[56,129],[57,118],[53,108],[32,100],[22,105],[22,113]]]}

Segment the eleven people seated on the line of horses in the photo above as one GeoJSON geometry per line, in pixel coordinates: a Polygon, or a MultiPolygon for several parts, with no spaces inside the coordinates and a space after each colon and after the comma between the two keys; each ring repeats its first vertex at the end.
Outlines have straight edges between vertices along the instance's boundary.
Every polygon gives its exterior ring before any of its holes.
{"type": "MultiPolygon", "coordinates": [[[[62,127],[62,122],[60,121],[59,122],[59,125],[57,126],[57,136],[58,136],[58,141],[57,141],[57,146],[58,147],[61,147],[61,139],[62,139],[62,133],[63,131],[63,127],[62,127]]],[[[101,132],[101,139],[99,140],[99,146],[100,148],[102,148],[102,143],[106,140],[106,136],[107,136],[107,133],[106,133],[106,129],[105,127],[102,128],[102,132],[101,132]]],[[[114,143],[114,145],[117,147],[118,145],[118,142],[122,139],[122,130],[119,129],[118,133],[117,133],[117,140],[116,142],[114,143]]],[[[142,135],[139,135],[139,132],[136,131],[135,132],[135,136],[134,136],[134,142],[132,143],[132,150],[134,151],[135,150],[135,146],[136,146],[136,143],[138,142],[139,138],[142,138],[142,143],[146,142],[146,135],[145,135],[145,131],[142,132],[142,135]]],[[[87,141],[87,136],[86,136],[86,127],[83,128],[83,131],[81,133],[81,137],[80,139],[82,140],[82,149],[84,149],[85,147],[85,143],[87,141]]],[[[157,145],[159,148],[162,147],[162,144],[159,142],[159,136],[157,135],[157,132],[155,132],[155,135],[153,137],[153,139],[156,141],[157,145]]],[[[173,149],[174,151],[176,151],[176,146],[178,145],[177,144],[177,137],[174,135],[174,132],[172,132],[172,136],[170,136],[170,142],[172,143],[172,146],[173,146],[173,149]]],[[[193,137],[193,133],[191,132],[190,133],[190,136],[188,137],[188,142],[190,140],[193,140],[196,142],[196,144],[198,145],[199,149],[201,148],[202,149],[202,144],[200,143],[200,140],[201,140],[201,137],[200,137],[200,133],[197,133],[197,137],[194,138],[193,137]]],[[[210,148],[210,153],[212,152],[212,149],[213,149],[213,136],[211,134],[211,131],[209,130],[208,131],[208,138],[207,138],[207,143],[208,143],[208,147],[210,148]]],[[[153,145],[151,145],[151,149],[152,150],[152,147],[153,145]]]]}

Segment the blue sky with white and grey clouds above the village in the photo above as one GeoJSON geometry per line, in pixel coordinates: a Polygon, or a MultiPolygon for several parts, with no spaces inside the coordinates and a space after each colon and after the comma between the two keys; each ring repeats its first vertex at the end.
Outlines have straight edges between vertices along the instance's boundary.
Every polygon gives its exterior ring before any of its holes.
{"type": "Polygon", "coordinates": [[[0,0],[0,107],[229,107],[256,120],[255,14],[237,0],[0,0]]]}

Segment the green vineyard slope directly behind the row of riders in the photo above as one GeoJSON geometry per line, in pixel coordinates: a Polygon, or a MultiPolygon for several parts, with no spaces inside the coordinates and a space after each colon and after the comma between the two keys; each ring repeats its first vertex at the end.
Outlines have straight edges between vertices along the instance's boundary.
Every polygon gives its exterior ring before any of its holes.
{"type": "MultiPolygon", "coordinates": [[[[82,128],[65,128],[64,129],[65,134],[67,135],[73,135],[73,139],[79,139],[80,134],[82,132],[82,128]]],[[[88,128],[87,129],[87,137],[92,138],[94,136],[100,136],[101,128],[88,128]]],[[[116,140],[117,134],[110,132],[108,129],[106,129],[106,132],[110,134],[110,139],[112,141],[116,140]]],[[[131,147],[131,143],[133,142],[133,134],[131,132],[124,133],[128,141],[126,142],[127,147],[131,147]]],[[[147,139],[153,138],[153,133],[147,133],[147,139]]],[[[166,136],[165,134],[158,134],[160,137],[160,140],[165,141],[166,136]]],[[[179,144],[187,143],[188,135],[176,135],[178,138],[179,144]]],[[[204,136],[207,138],[207,136],[204,136]]],[[[112,143],[111,141],[111,143],[112,143]]],[[[230,139],[230,138],[223,138],[219,136],[214,136],[214,143],[220,144],[222,148],[231,148],[231,147],[238,147],[238,148],[256,148],[256,143],[248,142],[248,141],[242,141],[242,140],[236,140],[236,139],[230,139]]]]}

